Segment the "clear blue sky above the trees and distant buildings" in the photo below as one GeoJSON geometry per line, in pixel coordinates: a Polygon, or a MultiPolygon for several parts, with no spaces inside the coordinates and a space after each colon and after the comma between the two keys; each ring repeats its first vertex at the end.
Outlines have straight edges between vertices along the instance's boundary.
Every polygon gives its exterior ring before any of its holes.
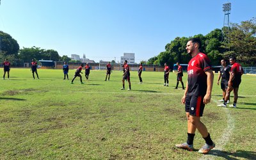
{"type": "Polygon", "coordinates": [[[60,56],[136,62],[165,51],[177,36],[206,35],[230,22],[256,17],[255,0],[0,0],[0,30],[22,47],[54,49],[60,56]]]}

